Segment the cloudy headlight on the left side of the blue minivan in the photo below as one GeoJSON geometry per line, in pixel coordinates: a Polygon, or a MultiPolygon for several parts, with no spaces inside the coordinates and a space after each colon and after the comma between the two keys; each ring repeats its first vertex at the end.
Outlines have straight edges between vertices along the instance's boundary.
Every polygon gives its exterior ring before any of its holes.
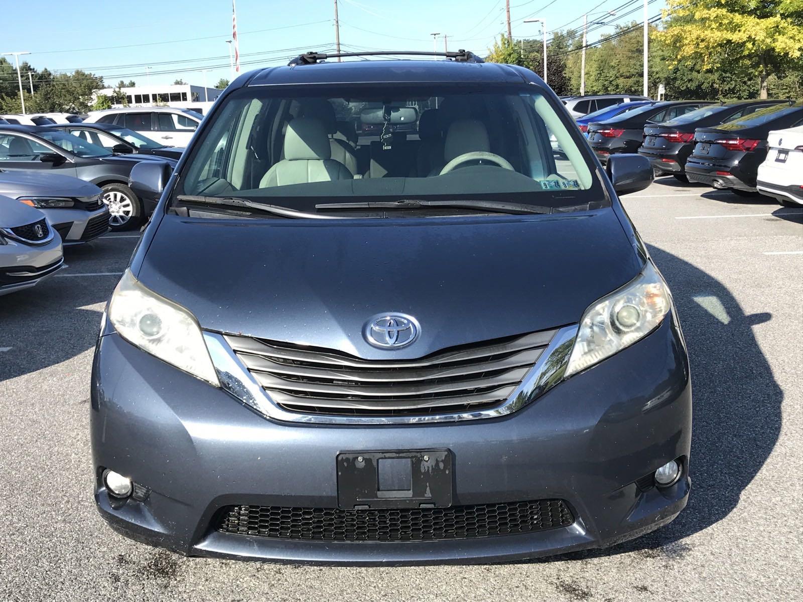
{"type": "Polygon", "coordinates": [[[220,386],[195,316],[144,287],[131,270],[125,270],[112,293],[108,319],[129,343],[220,386]]]}

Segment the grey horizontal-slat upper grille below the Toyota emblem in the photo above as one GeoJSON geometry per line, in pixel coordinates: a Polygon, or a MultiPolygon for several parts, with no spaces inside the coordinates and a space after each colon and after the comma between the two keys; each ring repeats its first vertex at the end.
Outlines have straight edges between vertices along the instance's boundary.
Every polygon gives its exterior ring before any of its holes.
{"type": "Polygon", "coordinates": [[[393,416],[503,403],[556,331],[448,348],[415,360],[363,360],[332,349],[226,336],[275,403],[291,412],[393,416]]]}

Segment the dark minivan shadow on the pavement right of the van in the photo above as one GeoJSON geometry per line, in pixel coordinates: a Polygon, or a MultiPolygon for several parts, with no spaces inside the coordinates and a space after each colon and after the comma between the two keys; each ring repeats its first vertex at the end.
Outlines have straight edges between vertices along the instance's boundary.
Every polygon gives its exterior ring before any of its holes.
{"type": "Polygon", "coordinates": [[[691,496],[666,527],[605,548],[552,558],[585,559],[637,552],[676,558],[691,549],[684,538],[724,519],[764,466],[781,432],[783,392],[752,328],[769,313],[744,315],[727,287],[664,250],[650,254],[670,285],[691,361],[693,425],[691,496]]]}

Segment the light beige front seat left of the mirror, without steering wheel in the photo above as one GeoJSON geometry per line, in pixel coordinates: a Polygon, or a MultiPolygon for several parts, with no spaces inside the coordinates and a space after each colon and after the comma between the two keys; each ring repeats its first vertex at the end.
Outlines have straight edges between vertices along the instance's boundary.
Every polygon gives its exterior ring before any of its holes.
{"type": "Polygon", "coordinates": [[[349,170],[332,159],[329,139],[320,121],[297,117],[287,124],[283,160],[267,170],[259,187],[351,179],[349,170]]]}

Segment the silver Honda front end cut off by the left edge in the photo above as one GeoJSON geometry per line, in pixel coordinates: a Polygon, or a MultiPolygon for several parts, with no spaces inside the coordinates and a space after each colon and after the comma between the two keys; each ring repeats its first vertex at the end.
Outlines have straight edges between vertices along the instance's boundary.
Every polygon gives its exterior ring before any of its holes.
{"type": "Polygon", "coordinates": [[[0,196],[0,295],[34,287],[63,264],[61,237],[44,214],[0,196]]]}

